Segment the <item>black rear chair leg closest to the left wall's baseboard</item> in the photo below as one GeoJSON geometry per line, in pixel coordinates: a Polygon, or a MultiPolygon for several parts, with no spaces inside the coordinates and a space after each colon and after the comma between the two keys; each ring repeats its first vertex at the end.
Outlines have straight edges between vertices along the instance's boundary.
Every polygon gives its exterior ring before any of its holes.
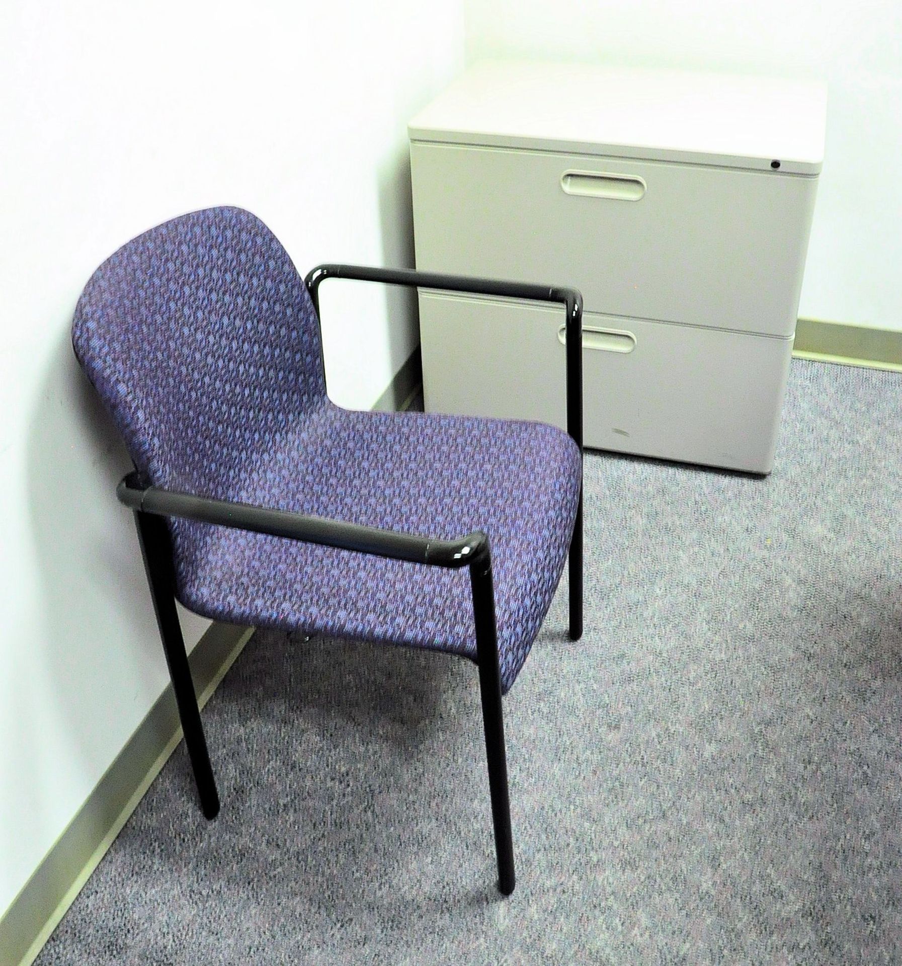
{"type": "Polygon", "coordinates": [[[135,511],[135,523],[138,527],[138,540],[144,555],[144,567],[147,571],[147,581],[151,587],[151,597],[154,600],[156,623],[159,636],[163,642],[166,664],[169,667],[169,677],[172,689],[176,695],[179,707],[179,718],[182,721],[184,744],[191,759],[194,770],[194,781],[201,799],[201,809],[207,818],[215,818],[219,812],[219,795],[216,792],[216,781],[213,778],[210,764],[210,754],[207,751],[207,740],[201,725],[201,713],[197,706],[197,696],[194,694],[194,682],[191,679],[191,668],[184,650],[182,627],[179,624],[179,614],[176,611],[176,601],[173,590],[172,554],[169,547],[169,534],[162,518],[150,513],[135,511]]]}

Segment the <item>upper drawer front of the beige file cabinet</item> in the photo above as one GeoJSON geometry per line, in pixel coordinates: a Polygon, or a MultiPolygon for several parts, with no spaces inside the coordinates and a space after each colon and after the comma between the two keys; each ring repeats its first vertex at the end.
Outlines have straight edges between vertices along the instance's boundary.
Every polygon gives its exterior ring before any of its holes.
{"type": "Polygon", "coordinates": [[[795,331],[815,177],[419,142],[410,157],[419,269],[573,285],[590,312],[795,331]]]}

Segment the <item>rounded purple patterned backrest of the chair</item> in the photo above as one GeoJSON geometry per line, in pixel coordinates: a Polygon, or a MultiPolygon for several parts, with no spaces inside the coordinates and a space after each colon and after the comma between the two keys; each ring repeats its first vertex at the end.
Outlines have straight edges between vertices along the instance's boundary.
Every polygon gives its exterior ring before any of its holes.
{"type": "Polygon", "coordinates": [[[235,492],[325,400],[303,279],[238,208],[185,214],[120,248],[78,300],[72,345],[146,484],[235,492]]]}

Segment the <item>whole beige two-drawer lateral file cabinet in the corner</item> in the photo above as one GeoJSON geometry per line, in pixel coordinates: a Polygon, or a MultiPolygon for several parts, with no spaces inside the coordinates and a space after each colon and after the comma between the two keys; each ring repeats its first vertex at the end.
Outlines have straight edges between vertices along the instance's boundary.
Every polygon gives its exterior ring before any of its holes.
{"type": "MultiPolygon", "coordinates": [[[[814,83],[480,65],[409,124],[417,268],[582,292],[586,445],[769,472],[825,113],[814,83]]],[[[565,425],[559,306],[419,308],[428,412],[565,425]]]]}

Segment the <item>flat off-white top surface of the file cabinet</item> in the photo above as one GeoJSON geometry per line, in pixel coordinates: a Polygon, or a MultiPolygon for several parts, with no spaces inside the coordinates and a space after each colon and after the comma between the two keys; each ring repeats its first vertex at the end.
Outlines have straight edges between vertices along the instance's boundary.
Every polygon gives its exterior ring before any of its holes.
{"type": "Polygon", "coordinates": [[[826,86],[811,80],[489,61],[425,107],[409,136],[817,175],[826,113],[826,86]]]}

